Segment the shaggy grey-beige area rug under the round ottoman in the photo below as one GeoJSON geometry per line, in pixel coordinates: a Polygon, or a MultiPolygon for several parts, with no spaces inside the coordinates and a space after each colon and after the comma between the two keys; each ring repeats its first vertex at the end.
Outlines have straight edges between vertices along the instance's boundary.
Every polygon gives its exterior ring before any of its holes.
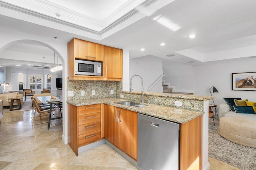
{"type": "Polygon", "coordinates": [[[232,143],[218,134],[218,118],[209,119],[209,156],[241,170],[256,170],[256,149],[232,143]]]}

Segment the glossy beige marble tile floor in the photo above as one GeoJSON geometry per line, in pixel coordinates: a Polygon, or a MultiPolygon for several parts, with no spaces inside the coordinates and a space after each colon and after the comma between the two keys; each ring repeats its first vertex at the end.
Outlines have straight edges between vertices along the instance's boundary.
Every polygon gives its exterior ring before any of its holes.
{"type": "MultiPolygon", "coordinates": [[[[108,145],[76,156],[62,143],[62,121],[55,126],[32,128],[31,111],[5,113],[0,123],[0,169],[3,170],[136,170],[108,145]]],[[[44,125],[47,125],[44,124],[44,125]]],[[[209,159],[211,170],[238,170],[209,159]],[[216,168],[215,168],[216,167],[216,168]],[[218,167],[218,168],[217,168],[218,167]]]]}

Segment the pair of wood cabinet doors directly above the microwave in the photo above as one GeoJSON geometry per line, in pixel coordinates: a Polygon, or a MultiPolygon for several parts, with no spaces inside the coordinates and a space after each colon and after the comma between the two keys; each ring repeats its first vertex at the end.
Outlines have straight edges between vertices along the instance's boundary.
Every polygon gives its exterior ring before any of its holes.
{"type": "Polygon", "coordinates": [[[75,58],[103,61],[104,45],[74,38],[74,49],[75,58]]]}

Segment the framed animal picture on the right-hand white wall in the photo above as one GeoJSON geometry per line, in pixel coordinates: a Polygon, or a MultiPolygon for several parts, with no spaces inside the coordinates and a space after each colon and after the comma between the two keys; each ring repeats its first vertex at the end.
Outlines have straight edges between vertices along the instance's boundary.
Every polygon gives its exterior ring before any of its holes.
{"type": "Polygon", "coordinates": [[[256,91],[256,72],[232,73],[232,90],[256,91]]]}

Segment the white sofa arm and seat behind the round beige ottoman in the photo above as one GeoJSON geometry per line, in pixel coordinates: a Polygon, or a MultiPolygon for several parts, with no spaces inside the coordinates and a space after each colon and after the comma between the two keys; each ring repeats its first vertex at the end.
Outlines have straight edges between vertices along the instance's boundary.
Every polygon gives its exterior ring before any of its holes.
{"type": "Polygon", "coordinates": [[[219,116],[219,120],[221,117],[224,117],[224,116],[235,116],[235,117],[243,117],[250,120],[256,120],[256,114],[236,113],[235,111],[231,111],[230,107],[226,103],[222,103],[219,105],[218,116],[219,116]]]}

